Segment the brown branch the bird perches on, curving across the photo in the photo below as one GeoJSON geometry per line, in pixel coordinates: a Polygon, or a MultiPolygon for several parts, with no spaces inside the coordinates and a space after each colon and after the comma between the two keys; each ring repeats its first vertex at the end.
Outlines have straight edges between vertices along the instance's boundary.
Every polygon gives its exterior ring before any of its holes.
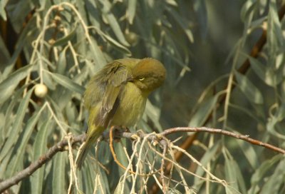
{"type": "MultiPolygon", "coordinates": [[[[230,136],[232,138],[241,139],[243,141],[247,141],[247,142],[252,143],[254,145],[262,146],[264,148],[268,148],[270,150],[274,150],[276,152],[285,154],[285,150],[282,148],[278,148],[278,147],[273,146],[269,143],[263,143],[261,141],[255,140],[253,138],[249,138],[249,136],[247,136],[247,135],[241,135],[241,134],[233,133],[230,131],[224,131],[224,130],[219,129],[219,128],[177,127],[177,128],[169,128],[169,129],[166,129],[165,131],[163,131],[162,133],[154,133],[153,135],[147,134],[147,133],[130,133],[130,132],[125,132],[125,131],[118,131],[117,136],[119,136],[120,138],[132,139],[133,136],[136,135],[136,136],[140,136],[140,138],[147,138],[150,141],[157,141],[158,143],[160,143],[160,141],[163,141],[165,139],[165,136],[168,136],[172,133],[187,133],[187,132],[219,133],[219,134],[222,134],[224,136],[230,136]]],[[[103,139],[106,140],[108,138],[109,138],[109,133],[108,132],[104,133],[103,139]]],[[[85,133],[80,135],[80,136],[73,136],[71,138],[71,144],[73,145],[75,143],[83,143],[85,140],[86,140],[86,134],[85,133]]],[[[21,181],[24,178],[33,174],[33,172],[35,172],[38,168],[41,168],[41,166],[44,163],[47,163],[48,160],[51,160],[51,158],[53,158],[53,155],[56,155],[56,153],[67,150],[65,148],[66,146],[68,146],[68,140],[66,138],[64,138],[62,141],[56,143],[56,145],[51,147],[46,154],[41,155],[41,157],[38,158],[38,160],[31,163],[31,165],[29,165],[27,168],[25,168],[24,170],[21,170],[19,173],[17,173],[13,177],[0,182],[0,193],[4,192],[4,190],[10,188],[13,185],[16,185],[17,183],[19,183],[19,181],[21,181]]]]}

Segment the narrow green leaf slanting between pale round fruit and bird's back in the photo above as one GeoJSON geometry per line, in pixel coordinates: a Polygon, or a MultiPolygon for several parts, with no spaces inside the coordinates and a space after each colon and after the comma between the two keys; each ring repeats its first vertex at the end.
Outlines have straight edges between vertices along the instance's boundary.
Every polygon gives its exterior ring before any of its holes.
{"type": "Polygon", "coordinates": [[[84,93],[85,91],[84,87],[78,85],[78,83],[75,83],[74,81],[72,81],[70,78],[66,76],[63,76],[58,73],[51,73],[51,76],[53,77],[54,81],[61,84],[61,86],[68,88],[71,91],[75,91],[78,93],[84,93]]]}

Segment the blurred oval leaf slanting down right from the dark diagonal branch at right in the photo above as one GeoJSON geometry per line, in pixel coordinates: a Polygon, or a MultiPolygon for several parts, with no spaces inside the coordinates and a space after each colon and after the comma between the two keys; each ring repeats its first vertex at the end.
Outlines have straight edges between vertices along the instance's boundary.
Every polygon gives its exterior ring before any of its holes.
{"type": "Polygon", "coordinates": [[[255,104],[262,104],[264,102],[261,92],[256,86],[254,86],[252,81],[250,81],[247,76],[244,76],[237,71],[234,73],[234,75],[237,78],[239,88],[250,102],[255,104]]]}

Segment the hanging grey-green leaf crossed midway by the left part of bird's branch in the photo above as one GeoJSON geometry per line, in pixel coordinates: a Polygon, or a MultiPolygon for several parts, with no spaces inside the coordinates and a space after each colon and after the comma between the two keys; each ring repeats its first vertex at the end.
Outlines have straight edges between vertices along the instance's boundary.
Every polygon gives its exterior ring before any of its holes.
{"type": "MultiPolygon", "coordinates": [[[[47,148],[47,139],[48,139],[48,131],[51,128],[51,120],[46,120],[38,131],[36,135],[36,141],[33,144],[33,161],[38,160],[44,153],[46,153],[47,148]]],[[[36,170],[35,173],[30,178],[31,185],[31,193],[38,194],[43,192],[43,176],[45,173],[46,165],[42,165],[41,168],[36,170]]]]}

